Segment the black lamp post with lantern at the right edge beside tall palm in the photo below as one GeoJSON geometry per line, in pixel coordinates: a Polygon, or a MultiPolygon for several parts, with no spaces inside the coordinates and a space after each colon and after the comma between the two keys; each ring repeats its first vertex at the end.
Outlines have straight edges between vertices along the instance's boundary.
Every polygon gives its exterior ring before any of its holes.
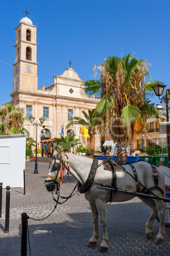
{"type": "MultiPolygon", "coordinates": [[[[159,83],[152,87],[156,96],[159,96],[159,99],[160,99],[160,96],[162,95],[165,87],[166,87],[166,85],[161,85],[159,83]]],[[[166,121],[169,122],[169,113],[168,113],[169,98],[167,97],[167,92],[170,95],[170,88],[166,89],[166,121]]],[[[167,133],[167,150],[168,150],[168,162],[169,162],[169,166],[170,166],[170,136],[169,136],[169,133],[167,133]]]]}

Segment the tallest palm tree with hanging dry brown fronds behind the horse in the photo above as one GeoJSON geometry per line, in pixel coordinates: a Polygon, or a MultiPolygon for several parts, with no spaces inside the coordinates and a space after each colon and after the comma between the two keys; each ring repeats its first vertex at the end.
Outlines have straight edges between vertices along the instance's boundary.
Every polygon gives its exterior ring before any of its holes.
{"type": "Polygon", "coordinates": [[[100,95],[96,112],[101,116],[109,113],[105,118],[112,121],[111,135],[117,143],[117,159],[122,164],[126,162],[126,148],[134,139],[136,124],[145,122],[148,109],[156,112],[154,106],[150,108],[145,102],[146,96],[153,94],[152,86],[158,83],[145,82],[150,78],[148,66],[147,61],[136,59],[131,53],[121,58],[108,57],[98,64],[100,80],[84,83],[88,96],[100,95]]]}

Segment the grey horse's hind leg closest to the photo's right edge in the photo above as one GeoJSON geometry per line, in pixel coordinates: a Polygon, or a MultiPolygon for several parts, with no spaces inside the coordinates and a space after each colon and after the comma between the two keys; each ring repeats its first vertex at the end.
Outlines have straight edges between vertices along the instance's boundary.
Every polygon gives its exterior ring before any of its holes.
{"type": "Polygon", "coordinates": [[[160,200],[155,200],[155,204],[157,206],[157,210],[159,213],[160,225],[159,225],[159,233],[157,234],[154,243],[160,244],[164,241],[164,238],[166,235],[165,223],[164,223],[166,209],[164,208],[164,205],[160,200]]]}

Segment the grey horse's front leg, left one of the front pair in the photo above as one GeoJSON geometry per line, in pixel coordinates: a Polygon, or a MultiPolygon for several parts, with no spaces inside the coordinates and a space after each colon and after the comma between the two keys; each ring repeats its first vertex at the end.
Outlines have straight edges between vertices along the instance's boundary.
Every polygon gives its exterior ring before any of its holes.
{"type": "Polygon", "coordinates": [[[100,238],[98,230],[98,210],[95,204],[89,203],[91,207],[92,219],[93,219],[93,236],[88,241],[88,247],[94,247],[100,238]]]}

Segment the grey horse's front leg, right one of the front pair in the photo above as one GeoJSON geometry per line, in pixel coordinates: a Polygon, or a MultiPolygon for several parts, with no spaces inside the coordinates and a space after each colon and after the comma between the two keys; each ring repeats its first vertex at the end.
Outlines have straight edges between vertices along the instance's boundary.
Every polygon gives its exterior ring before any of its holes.
{"type": "Polygon", "coordinates": [[[108,239],[107,222],[106,222],[106,203],[105,201],[98,200],[96,201],[96,206],[97,206],[99,217],[100,217],[100,224],[103,229],[103,240],[100,244],[100,248],[98,248],[98,252],[107,252],[109,239],[108,239]]]}

